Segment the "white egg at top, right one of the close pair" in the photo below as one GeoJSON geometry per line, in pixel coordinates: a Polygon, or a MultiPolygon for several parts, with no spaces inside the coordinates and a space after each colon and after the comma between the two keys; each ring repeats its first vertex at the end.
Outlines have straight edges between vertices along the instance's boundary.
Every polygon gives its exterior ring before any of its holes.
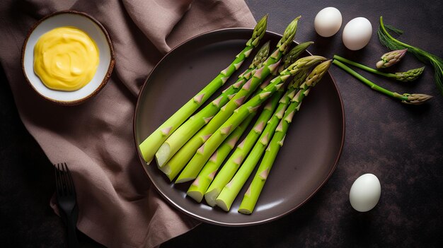
{"type": "Polygon", "coordinates": [[[372,25],[367,18],[357,17],[349,21],[343,29],[343,44],[350,50],[365,47],[372,36],[372,25]]]}

